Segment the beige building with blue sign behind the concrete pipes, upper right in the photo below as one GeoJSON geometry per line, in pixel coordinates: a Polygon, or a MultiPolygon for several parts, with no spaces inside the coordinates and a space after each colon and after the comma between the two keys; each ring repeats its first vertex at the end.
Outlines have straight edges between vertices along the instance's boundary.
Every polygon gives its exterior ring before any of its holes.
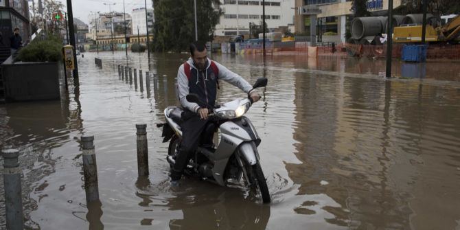
{"type": "MultiPolygon", "coordinates": [[[[393,0],[393,9],[403,0],[393,0]]],[[[352,0],[295,0],[295,32],[310,35],[310,9],[318,9],[317,34],[336,34],[337,43],[345,43],[345,25],[352,20],[352,0]]],[[[367,10],[384,15],[388,0],[368,0],[367,10]]]]}

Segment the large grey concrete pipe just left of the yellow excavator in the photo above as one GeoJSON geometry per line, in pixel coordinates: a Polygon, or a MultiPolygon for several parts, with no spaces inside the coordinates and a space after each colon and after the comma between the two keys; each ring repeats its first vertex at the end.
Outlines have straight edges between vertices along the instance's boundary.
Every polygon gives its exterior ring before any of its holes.
{"type": "Polygon", "coordinates": [[[356,40],[379,33],[382,33],[382,21],[376,16],[355,18],[352,21],[352,37],[356,40]]]}

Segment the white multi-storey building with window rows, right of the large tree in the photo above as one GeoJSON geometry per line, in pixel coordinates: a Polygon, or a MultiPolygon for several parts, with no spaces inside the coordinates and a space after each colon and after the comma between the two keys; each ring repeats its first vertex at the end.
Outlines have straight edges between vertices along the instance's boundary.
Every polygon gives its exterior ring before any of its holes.
{"type": "MultiPolygon", "coordinates": [[[[295,0],[266,0],[265,22],[268,30],[288,27],[294,23],[295,0]]],[[[261,25],[262,0],[223,0],[220,8],[224,14],[216,25],[215,36],[235,36],[249,34],[249,23],[261,25]]]]}

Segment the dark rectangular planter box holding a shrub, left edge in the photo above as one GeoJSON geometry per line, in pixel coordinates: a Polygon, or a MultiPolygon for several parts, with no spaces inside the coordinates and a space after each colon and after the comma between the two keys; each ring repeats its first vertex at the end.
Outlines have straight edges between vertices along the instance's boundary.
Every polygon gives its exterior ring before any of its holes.
{"type": "Polygon", "coordinates": [[[62,62],[15,62],[1,65],[7,102],[60,99],[62,62]]]}

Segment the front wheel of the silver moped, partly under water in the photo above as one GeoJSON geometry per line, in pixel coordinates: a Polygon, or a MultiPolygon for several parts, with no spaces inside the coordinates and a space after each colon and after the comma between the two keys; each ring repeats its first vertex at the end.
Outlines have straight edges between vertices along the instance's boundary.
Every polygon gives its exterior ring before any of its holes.
{"type": "Polygon", "coordinates": [[[246,163],[246,172],[247,176],[249,177],[249,181],[251,185],[249,188],[251,192],[256,194],[257,196],[262,196],[263,203],[270,203],[270,193],[268,192],[268,186],[265,180],[264,172],[262,171],[262,167],[260,167],[259,161],[255,165],[249,165],[246,163]]]}

